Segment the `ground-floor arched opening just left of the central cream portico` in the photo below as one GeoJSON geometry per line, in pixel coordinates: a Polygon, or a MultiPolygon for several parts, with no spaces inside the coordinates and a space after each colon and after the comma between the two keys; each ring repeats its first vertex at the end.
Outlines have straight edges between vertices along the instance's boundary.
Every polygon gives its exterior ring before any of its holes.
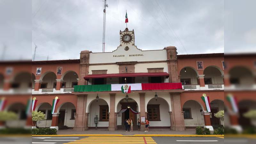
{"type": "Polygon", "coordinates": [[[74,127],[76,107],[73,103],[62,103],[57,109],[57,113],[60,113],[58,117],[59,129],[74,127]]]}

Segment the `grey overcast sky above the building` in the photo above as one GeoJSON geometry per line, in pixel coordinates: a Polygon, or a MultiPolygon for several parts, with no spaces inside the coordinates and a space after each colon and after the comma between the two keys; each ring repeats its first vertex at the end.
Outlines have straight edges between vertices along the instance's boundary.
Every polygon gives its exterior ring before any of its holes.
{"type": "MultiPolygon", "coordinates": [[[[2,59],[31,59],[34,44],[36,60],[48,55],[49,60],[79,59],[82,50],[102,52],[102,0],[26,2],[0,0],[2,59]]],[[[255,51],[254,0],[107,0],[107,4],[105,52],[119,45],[125,10],[135,45],[142,50],[171,45],[178,54],[255,51]]]]}

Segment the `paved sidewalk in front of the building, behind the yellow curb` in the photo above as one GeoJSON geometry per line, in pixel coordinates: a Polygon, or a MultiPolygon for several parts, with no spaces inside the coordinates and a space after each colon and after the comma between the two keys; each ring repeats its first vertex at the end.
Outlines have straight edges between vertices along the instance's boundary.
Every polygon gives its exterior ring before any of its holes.
{"type": "Polygon", "coordinates": [[[122,135],[134,135],[134,134],[195,134],[196,130],[186,131],[171,131],[169,128],[165,129],[149,129],[149,132],[133,130],[133,132],[125,132],[125,130],[108,131],[108,129],[89,129],[88,131],[73,131],[72,129],[59,130],[57,134],[122,134],[122,135]]]}

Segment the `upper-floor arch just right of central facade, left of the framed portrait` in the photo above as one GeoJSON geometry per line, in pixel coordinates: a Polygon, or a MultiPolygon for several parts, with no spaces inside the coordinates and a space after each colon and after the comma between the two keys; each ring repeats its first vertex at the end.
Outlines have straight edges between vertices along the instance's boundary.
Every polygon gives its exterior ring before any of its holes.
{"type": "Polygon", "coordinates": [[[185,85],[185,84],[198,84],[198,82],[197,82],[197,76],[198,75],[199,75],[199,73],[195,68],[189,67],[189,66],[184,67],[180,70],[180,79],[189,79],[189,83],[184,82],[184,81],[181,81],[181,83],[183,85],[185,85]]]}

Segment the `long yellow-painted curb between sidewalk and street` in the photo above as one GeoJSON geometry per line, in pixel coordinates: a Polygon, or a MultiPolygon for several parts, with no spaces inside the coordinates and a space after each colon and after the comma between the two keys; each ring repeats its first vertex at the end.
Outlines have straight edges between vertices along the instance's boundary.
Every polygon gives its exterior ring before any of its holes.
{"type": "Polygon", "coordinates": [[[32,136],[115,136],[115,137],[224,137],[224,135],[196,135],[196,134],[134,134],[134,135],[122,135],[122,134],[58,134],[58,135],[32,135],[32,136]]]}

